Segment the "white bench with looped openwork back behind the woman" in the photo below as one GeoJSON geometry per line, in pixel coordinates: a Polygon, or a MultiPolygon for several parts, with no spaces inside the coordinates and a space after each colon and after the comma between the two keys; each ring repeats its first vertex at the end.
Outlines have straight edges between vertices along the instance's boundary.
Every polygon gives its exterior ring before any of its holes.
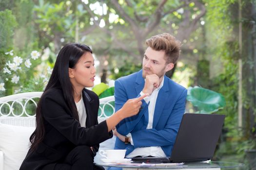
{"type": "MultiPolygon", "coordinates": [[[[27,92],[0,98],[0,123],[17,126],[36,126],[36,107],[42,92],[27,92]]],[[[99,100],[98,121],[115,112],[114,96],[99,100]]],[[[0,151],[0,170],[3,170],[4,153],[0,151]]]]}

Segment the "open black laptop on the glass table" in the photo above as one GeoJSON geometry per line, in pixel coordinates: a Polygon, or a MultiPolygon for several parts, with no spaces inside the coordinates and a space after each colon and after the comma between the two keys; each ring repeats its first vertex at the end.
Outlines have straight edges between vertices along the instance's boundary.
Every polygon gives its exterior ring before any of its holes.
{"type": "Polygon", "coordinates": [[[210,160],[215,152],[225,115],[183,115],[170,157],[135,157],[134,162],[167,163],[210,160]]]}

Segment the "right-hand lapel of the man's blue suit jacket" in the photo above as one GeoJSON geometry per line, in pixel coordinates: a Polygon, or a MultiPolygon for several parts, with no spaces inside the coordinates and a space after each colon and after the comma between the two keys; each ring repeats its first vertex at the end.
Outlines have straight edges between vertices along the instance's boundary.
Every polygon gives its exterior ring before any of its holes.
{"type": "Polygon", "coordinates": [[[155,106],[154,119],[153,119],[153,128],[155,128],[158,124],[158,120],[163,111],[163,107],[166,102],[168,102],[169,96],[169,85],[168,85],[168,77],[164,76],[164,82],[162,88],[158,92],[158,98],[155,106]]]}

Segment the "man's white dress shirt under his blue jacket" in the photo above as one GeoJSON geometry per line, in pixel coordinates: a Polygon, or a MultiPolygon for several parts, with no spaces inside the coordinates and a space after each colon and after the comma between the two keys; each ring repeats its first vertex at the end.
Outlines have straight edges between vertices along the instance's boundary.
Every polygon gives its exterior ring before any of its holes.
{"type": "MultiPolygon", "coordinates": [[[[155,89],[152,94],[148,97],[144,98],[144,101],[148,103],[148,125],[147,129],[152,129],[153,127],[153,118],[154,118],[154,112],[155,112],[155,106],[158,98],[158,92],[163,86],[164,77],[162,82],[160,83],[159,87],[155,89]]],[[[144,95],[144,93],[141,91],[140,96],[144,95]]],[[[129,133],[127,136],[131,137],[131,144],[133,143],[133,137],[131,133],[129,133]]],[[[156,157],[165,157],[165,153],[163,152],[162,148],[160,146],[151,146],[151,147],[141,147],[136,148],[133,152],[128,154],[126,157],[136,157],[136,156],[156,156],[156,157]]]]}

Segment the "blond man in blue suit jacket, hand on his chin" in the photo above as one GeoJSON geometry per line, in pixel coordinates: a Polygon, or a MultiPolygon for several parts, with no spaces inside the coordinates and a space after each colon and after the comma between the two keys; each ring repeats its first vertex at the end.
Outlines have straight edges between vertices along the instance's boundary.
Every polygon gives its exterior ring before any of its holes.
{"type": "Polygon", "coordinates": [[[115,149],[126,149],[126,157],[170,156],[185,111],[187,89],[165,73],[174,68],[180,42],[170,34],[146,40],[142,69],[115,82],[115,108],[143,94],[138,115],[123,119],[114,130],[115,149]]]}

